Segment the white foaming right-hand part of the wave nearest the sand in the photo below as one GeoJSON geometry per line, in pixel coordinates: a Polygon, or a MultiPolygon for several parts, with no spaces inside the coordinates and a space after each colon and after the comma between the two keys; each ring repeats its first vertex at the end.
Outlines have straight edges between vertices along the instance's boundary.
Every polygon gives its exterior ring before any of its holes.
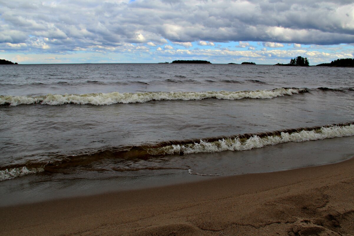
{"type": "Polygon", "coordinates": [[[309,140],[322,140],[333,137],[346,137],[354,135],[354,125],[321,127],[313,130],[302,130],[293,133],[281,132],[279,135],[253,135],[249,138],[234,137],[223,138],[208,142],[200,140],[193,144],[173,144],[164,147],[152,148],[148,152],[151,155],[189,154],[200,152],[243,151],[253,148],[261,148],[267,145],[276,145],[285,142],[304,142],[309,140]]]}

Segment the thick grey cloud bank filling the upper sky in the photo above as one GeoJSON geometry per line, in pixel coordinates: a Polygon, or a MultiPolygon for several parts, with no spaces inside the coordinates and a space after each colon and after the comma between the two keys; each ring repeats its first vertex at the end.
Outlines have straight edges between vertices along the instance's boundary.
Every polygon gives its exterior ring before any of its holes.
{"type": "Polygon", "coordinates": [[[333,1],[0,2],[0,49],[62,51],[131,43],[263,41],[354,42],[354,3],[333,1]]]}

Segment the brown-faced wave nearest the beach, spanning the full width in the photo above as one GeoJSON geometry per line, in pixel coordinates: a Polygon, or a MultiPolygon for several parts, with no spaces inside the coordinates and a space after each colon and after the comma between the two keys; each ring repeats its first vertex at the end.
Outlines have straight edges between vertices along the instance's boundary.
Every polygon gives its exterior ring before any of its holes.
{"type": "Polygon", "coordinates": [[[73,156],[57,156],[57,161],[47,163],[26,163],[25,166],[2,167],[0,181],[39,172],[62,172],[66,168],[86,166],[103,159],[119,159],[124,162],[124,160],[147,160],[169,155],[244,151],[285,142],[304,142],[346,136],[354,136],[354,122],[199,140],[165,141],[142,146],[107,147],[106,149],[86,151],[73,156]]]}

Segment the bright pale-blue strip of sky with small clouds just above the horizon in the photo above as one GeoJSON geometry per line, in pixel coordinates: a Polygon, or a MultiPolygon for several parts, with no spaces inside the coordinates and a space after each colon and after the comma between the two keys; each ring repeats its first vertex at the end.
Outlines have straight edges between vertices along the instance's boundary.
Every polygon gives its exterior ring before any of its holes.
{"type": "MultiPolygon", "coordinates": [[[[13,46],[13,45],[12,45],[13,46]]],[[[233,47],[221,49],[199,48],[199,49],[170,49],[163,50],[158,47],[156,50],[147,50],[149,47],[135,44],[124,44],[119,47],[95,46],[87,49],[90,51],[75,51],[71,54],[36,54],[26,53],[18,57],[18,53],[1,53],[7,60],[21,63],[82,63],[82,62],[161,62],[172,61],[176,57],[181,60],[207,60],[215,63],[241,63],[253,61],[257,64],[289,63],[290,58],[297,56],[307,57],[310,64],[330,62],[337,58],[353,58],[353,46],[316,46],[312,49],[306,48],[255,48],[255,50],[238,50],[233,47]],[[119,50],[119,53],[117,51],[119,50]],[[326,51],[324,51],[326,50],[326,51]],[[80,52],[81,51],[81,52],[80,52]],[[104,52],[104,54],[102,53],[104,52]],[[55,59],[53,59],[55,58],[55,59]],[[136,58],[141,58],[136,61],[136,58]],[[52,62],[51,62],[52,61],[52,62]]],[[[0,49],[1,50],[1,49],[0,49]]]]}

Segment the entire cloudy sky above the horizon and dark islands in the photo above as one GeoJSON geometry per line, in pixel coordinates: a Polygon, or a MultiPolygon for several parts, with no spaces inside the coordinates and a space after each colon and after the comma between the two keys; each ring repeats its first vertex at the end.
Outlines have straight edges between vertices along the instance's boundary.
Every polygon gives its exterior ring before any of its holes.
{"type": "Polygon", "coordinates": [[[0,59],[19,64],[353,55],[353,0],[0,0],[0,59]]]}

